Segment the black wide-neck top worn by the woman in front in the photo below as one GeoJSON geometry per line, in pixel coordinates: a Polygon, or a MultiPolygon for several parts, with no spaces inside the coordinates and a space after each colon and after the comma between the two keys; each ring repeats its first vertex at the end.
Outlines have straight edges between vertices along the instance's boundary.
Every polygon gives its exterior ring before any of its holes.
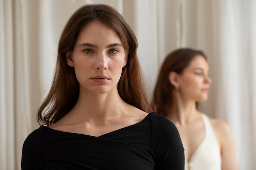
{"type": "Polygon", "coordinates": [[[93,137],[40,126],[22,149],[22,170],[184,170],[175,125],[153,112],[141,122],[93,137]]]}

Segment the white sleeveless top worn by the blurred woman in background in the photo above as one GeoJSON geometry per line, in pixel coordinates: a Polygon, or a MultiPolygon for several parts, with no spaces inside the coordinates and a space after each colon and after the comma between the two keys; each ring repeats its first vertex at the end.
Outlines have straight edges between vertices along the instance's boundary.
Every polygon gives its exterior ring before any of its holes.
{"type": "Polygon", "coordinates": [[[204,123],[204,139],[193,153],[190,162],[185,160],[185,170],[221,170],[218,141],[209,118],[203,113],[201,115],[204,123]]]}

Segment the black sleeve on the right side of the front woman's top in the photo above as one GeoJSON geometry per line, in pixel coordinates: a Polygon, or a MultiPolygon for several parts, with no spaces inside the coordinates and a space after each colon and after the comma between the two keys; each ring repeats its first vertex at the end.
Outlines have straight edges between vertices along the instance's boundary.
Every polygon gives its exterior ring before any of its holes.
{"type": "Polygon", "coordinates": [[[176,126],[161,115],[151,119],[155,170],[184,170],[184,148],[176,126]]]}

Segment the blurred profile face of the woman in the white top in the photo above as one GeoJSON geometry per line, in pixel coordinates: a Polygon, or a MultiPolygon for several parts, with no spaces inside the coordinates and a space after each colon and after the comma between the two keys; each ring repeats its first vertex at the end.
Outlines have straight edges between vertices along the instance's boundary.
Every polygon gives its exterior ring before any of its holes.
{"type": "Polygon", "coordinates": [[[208,99],[209,85],[209,66],[201,55],[191,60],[181,75],[178,75],[179,91],[186,99],[196,102],[208,99]]]}

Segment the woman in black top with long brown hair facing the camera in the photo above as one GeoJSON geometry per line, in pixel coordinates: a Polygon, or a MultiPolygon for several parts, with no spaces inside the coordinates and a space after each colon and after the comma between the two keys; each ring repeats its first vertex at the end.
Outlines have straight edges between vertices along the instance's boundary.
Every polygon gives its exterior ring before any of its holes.
{"type": "Polygon", "coordinates": [[[180,135],[150,107],[136,51],[114,8],[85,5],[71,16],[22,170],[184,170],[180,135]]]}

